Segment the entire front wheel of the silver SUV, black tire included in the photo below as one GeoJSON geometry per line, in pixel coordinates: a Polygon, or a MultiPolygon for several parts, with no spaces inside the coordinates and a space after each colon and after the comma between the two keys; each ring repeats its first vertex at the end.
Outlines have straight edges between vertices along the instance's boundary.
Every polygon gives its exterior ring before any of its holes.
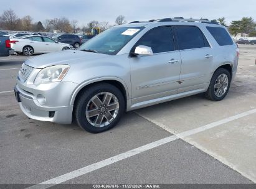
{"type": "Polygon", "coordinates": [[[83,130],[98,133],[113,128],[124,110],[125,99],[121,91],[108,83],[100,83],[87,88],[78,96],[74,119],[83,130]]]}

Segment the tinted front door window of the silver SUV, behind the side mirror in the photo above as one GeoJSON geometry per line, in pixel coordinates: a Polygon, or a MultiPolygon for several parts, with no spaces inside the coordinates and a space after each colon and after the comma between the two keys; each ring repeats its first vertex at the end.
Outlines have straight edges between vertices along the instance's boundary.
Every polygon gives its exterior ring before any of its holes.
{"type": "Polygon", "coordinates": [[[174,50],[173,31],[171,27],[157,27],[149,30],[136,44],[151,47],[153,53],[174,50]]]}

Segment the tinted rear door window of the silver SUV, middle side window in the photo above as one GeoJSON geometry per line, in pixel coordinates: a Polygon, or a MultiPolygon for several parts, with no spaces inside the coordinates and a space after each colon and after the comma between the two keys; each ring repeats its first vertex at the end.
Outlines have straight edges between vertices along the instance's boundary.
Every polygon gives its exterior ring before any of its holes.
{"type": "Polygon", "coordinates": [[[204,36],[196,26],[177,26],[176,27],[179,50],[208,47],[205,45],[204,36]]]}

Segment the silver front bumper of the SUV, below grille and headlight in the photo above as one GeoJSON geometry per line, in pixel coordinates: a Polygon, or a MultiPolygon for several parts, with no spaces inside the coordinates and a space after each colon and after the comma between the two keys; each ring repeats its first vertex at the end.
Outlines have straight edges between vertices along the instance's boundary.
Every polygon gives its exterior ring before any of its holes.
{"type": "Polygon", "coordinates": [[[42,106],[31,93],[22,90],[18,85],[14,87],[14,92],[22,112],[29,118],[58,124],[71,124],[73,105],[42,106]]]}

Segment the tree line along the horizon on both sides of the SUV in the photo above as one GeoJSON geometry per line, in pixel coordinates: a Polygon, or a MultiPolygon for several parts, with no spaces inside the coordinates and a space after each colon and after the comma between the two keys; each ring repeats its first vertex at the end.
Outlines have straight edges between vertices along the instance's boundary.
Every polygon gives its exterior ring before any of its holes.
{"type": "MultiPolygon", "coordinates": [[[[224,25],[228,27],[231,35],[236,36],[241,33],[249,34],[249,36],[256,36],[256,23],[252,17],[243,17],[239,21],[232,21],[228,26],[225,24],[225,17],[220,17],[219,19],[214,19],[212,22],[224,25]]],[[[125,24],[125,16],[120,15],[116,17],[115,24],[121,25],[125,24]]],[[[83,33],[90,33],[91,29],[94,27],[99,27],[101,32],[113,27],[109,22],[103,21],[90,21],[87,25],[78,27],[78,21],[70,21],[66,17],[45,19],[44,21],[33,22],[31,16],[27,15],[19,18],[12,9],[4,11],[0,16],[0,29],[4,30],[24,30],[24,31],[34,31],[34,32],[53,32],[57,30],[59,32],[65,33],[77,33],[81,31],[83,33]]]]}

